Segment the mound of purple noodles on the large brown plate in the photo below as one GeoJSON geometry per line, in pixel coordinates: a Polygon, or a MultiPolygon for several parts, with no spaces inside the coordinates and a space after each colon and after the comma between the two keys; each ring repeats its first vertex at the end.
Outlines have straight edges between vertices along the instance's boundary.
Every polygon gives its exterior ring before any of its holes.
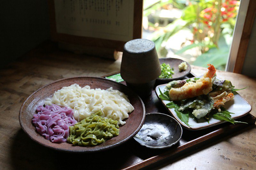
{"type": "Polygon", "coordinates": [[[32,123],[38,133],[54,143],[67,141],[69,126],[77,123],[72,109],[52,104],[38,106],[36,112],[32,123]]]}

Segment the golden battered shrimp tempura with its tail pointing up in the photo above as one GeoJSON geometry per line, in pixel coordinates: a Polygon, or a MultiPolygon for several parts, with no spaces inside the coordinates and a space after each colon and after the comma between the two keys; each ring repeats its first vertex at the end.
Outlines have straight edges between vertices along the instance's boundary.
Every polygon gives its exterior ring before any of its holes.
{"type": "Polygon", "coordinates": [[[170,99],[172,101],[178,101],[200,95],[207,95],[212,91],[212,78],[216,73],[216,69],[211,64],[208,64],[208,66],[208,72],[196,82],[186,82],[180,88],[171,88],[169,91],[170,99]]]}

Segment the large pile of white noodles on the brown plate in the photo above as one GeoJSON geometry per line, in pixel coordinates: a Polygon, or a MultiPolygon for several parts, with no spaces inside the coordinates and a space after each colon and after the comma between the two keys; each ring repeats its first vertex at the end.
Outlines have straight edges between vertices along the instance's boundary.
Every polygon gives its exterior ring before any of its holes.
{"type": "Polygon", "coordinates": [[[74,117],[79,122],[86,117],[101,110],[102,117],[117,120],[118,124],[128,118],[128,113],[134,110],[127,96],[112,87],[106,90],[91,89],[90,86],[80,87],[72,84],[56,91],[52,98],[47,98],[45,105],[57,104],[61,107],[68,106],[74,111],[74,117]]]}

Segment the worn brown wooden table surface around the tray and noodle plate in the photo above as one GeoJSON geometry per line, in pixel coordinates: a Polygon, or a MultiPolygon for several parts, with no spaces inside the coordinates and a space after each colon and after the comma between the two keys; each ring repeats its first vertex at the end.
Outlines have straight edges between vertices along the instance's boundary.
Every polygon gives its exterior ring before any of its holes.
{"type": "MultiPolygon", "coordinates": [[[[21,130],[18,115],[21,104],[36,89],[52,81],[74,76],[103,76],[120,70],[121,61],[60,51],[57,45],[46,42],[19,60],[0,70],[0,169],[59,169],[68,159],[53,162],[60,153],[32,141],[21,130]],[[43,161],[46,159],[46,161],[43,161]],[[42,167],[41,165],[45,167],[42,167]]],[[[201,75],[206,68],[192,66],[201,75]]],[[[230,80],[251,105],[256,116],[256,79],[241,74],[217,71],[220,78],[230,80]]],[[[256,127],[237,131],[202,148],[169,160],[157,168],[163,169],[255,169],[256,127]]],[[[122,151],[120,151],[122,154],[122,151]]],[[[73,156],[76,156],[73,154],[73,156]]],[[[81,156],[81,155],[80,155],[81,156]]],[[[99,153],[100,157],[100,153],[99,153]]],[[[86,158],[84,158],[86,163],[86,158]]],[[[79,165],[79,163],[76,163],[79,165]]],[[[84,167],[85,166],[81,166],[84,167]]]]}

